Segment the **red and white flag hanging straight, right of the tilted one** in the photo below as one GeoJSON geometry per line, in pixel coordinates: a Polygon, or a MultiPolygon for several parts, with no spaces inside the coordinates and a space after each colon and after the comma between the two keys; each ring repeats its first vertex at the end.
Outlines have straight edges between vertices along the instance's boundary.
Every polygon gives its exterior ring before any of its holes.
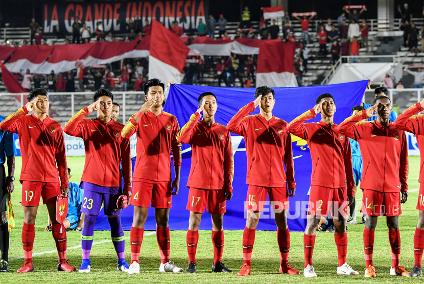
{"type": "Polygon", "coordinates": [[[293,59],[296,44],[293,42],[264,41],[259,45],[256,86],[296,87],[293,59]]]}

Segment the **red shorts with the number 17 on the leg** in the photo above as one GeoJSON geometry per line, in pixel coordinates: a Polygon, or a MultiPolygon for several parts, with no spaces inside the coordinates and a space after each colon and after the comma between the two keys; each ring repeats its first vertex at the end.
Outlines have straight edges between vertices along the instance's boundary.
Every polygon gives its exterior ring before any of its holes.
{"type": "Polygon", "coordinates": [[[224,190],[202,190],[200,188],[189,187],[189,200],[187,210],[203,213],[206,209],[209,214],[224,214],[225,191],[224,190]]]}

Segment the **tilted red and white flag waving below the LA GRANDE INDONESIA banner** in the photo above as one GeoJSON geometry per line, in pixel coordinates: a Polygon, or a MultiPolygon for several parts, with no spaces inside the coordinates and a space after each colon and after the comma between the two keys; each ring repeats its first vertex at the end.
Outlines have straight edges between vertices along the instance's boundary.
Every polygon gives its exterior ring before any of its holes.
{"type": "Polygon", "coordinates": [[[149,79],[158,78],[164,84],[168,80],[179,84],[183,78],[185,58],[190,49],[179,36],[153,19],[150,39],[149,79]]]}

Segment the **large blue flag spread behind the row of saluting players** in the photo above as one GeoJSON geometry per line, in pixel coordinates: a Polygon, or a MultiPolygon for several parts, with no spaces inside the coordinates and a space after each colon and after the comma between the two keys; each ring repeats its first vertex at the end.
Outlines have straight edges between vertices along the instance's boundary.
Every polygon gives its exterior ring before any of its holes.
{"type": "MultiPolygon", "coordinates": [[[[312,87],[274,88],[275,106],[273,115],[291,122],[301,113],[315,106],[316,98],[322,93],[331,93],[335,99],[337,111],[335,122],[341,123],[346,117],[351,115],[350,108],[361,104],[368,80],[312,87]]],[[[215,94],[218,100],[218,110],[215,120],[223,125],[227,125],[231,117],[240,108],[254,100],[254,88],[222,88],[190,85],[171,85],[164,111],[174,114],[180,127],[182,127],[190,116],[196,112],[198,107],[197,99],[202,92],[210,91],[215,94]]],[[[256,108],[252,114],[258,113],[256,108]]],[[[318,115],[310,122],[318,122],[321,119],[318,115]]],[[[231,133],[232,147],[234,151],[234,180],[233,198],[227,201],[227,212],[224,215],[224,228],[227,230],[242,230],[246,224],[246,149],[244,138],[231,133]]],[[[308,190],[311,183],[312,162],[311,154],[305,140],[292,136],[296,194],[290,198],[290,210],[288,216],[289,228],[292,231],[303,231],[306,225],[306,214],[308,205],[308,190]]],[[[171,230],[186,230],[189,226],[190,212],[185,209],[189,190],[186,187],[190,173],[191,148],[188,144],[182,145],[182,165],[180,191],[177,196],[173,196],[172,209],[170,212],[169,226],[171,230]]],[[[173,168],[173,167],[172,167],[173,168]]],[[[271,169],[272,171],[272,169],[271,169]]],[[[328,173],[331,175],[332,173],[328,173]]],[[[125,230],[131,229],[133,208],[132,206],[123,210],[122,224],[125,230]]],[[[211,229],[211,220],[207,212],[202,217],[200,229],[211,229]]],[[[149,208],[149,216],[145,229],[154,230],[156,228],[154,209],[149,208]]],[[[99,216],[96,224],[97,230],[108,230],[109,224],[103,216],[99,216]]],[[[265,206],[261,215],[261,221],[257,226],[258,230],[276,230],[275,222],[270,205],[265,206]]]]}

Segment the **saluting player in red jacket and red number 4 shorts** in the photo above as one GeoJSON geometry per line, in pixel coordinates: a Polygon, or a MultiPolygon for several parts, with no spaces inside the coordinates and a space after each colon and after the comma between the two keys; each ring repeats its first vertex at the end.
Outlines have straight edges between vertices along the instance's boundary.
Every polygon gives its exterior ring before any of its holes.
{"type": "Polygon", "coordinates": [[[143,242],[144,224],[149,206],[155,208],[156,240],[160,251],[159,272],[182,272],[170,261],[169,211],[172,196],[180,187],[181,144],[177,141],[180,131],[176,117],[162,110],[165,85],[151,79],[144,85],[145,102],[134,113],[121,132],[129,139],[137,135],[137,159],[135,161],[131,205],[134,205],[132,221],[131,265],[129,274],[140,273],[138,256],[143,242]],[[175,179],[171,183],[171,150],[175,179]],[[175,191],[174,191],[175,189],[175,191]]]}

